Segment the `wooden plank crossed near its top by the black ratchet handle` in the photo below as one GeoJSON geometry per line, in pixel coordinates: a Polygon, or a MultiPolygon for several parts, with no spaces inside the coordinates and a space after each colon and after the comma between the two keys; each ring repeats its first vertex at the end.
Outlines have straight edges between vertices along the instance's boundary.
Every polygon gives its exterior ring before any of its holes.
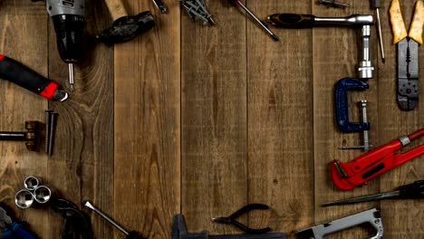
{"type": "MultiPolygon", "coordinates": [[[[249,1],[267,14],[310,14],[311,1],[249,1]]],[[[271,206],[252,227],[294,232],[313,224],[312,30],[271,28],[280,42],[247,23],[249,202],[271,206]]]]}

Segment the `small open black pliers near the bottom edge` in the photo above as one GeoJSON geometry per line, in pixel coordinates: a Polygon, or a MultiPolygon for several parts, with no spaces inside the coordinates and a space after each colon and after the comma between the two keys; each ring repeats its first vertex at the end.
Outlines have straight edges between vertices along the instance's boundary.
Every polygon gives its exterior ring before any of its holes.
{"type": "Polygon", "coordinates": [[[222,217],[214,217],[212,218],[212,221],[218,224],[230,224],[235,225],[240,230],[246,232],[247,234],[265,234],[269,231],[271,231],[271,228],[265,227],[261,229],[253,229],[250,227],[247,227],[246,225],[242,225],[241,223],[236,221],[236,218],[240,215],[243,215],[251,210],[266,210],[269,209],[269,206],[263,205],[263,204],[249,204],[246,206],[243,206],[242,208],[238,209],[236,213],[229,215],[229,216],[222,216],[222,217]]]}

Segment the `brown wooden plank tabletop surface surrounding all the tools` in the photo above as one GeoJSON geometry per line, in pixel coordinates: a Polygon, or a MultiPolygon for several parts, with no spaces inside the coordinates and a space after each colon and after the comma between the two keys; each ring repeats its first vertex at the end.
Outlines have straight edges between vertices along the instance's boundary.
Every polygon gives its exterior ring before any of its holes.
{"type": "MultiPolygon", "coordinates": [[[[342,0],[341,0],[342,1],[342,0]]],[[[185,215],[188,231],[238,234],[211,217],[230,215],[248,203],[271,210],[240,220],[270,226],[294,238],[298,230],[372,207],[381,208],[384,238],[424,238],[422,200],[386,200],[323,208],[335,199],[388,191],[424,178],[421,156],[370,181],[341,191],[332,185],[329,163],[348,162],[361,150],[361,133],[335,125],[334,83],[355,77],[360,30],[272,28],[274,42],[246,14],[226,1],[207,1],[217,26],[194,23],[176,0],[164,0],[169,14],[151,1],[123,1],[130,14],[150,10],[158,23],[148,33],[115,47],[94,35],[112,20],[101,0],[86,1],[84,57],[75,66],[75,91],[63,102],[47,102],[7,81],[0,84],[0,129],[24,130],[25,120],[44,122],[44,110],[58,112],[53,157],[29,152],[23,143],[0,142],[0,203],[41,238],[59,238],[63,220],[46,208],[17,209],[14,193],[24,177],[39,176],[77,205],[83,198],[120,225],[149,238],[169,238],[173,215],[185,215]]],[[[275,13],[345,16],[372,14],[369,1],[343,0],[335,9],[316,1],[242,1],[260,18],[275,13]]],[[[402,1],[410,25],[415,1],[402,1]]],[[[371,28],[375,77],[370,89],[350,93],[369,101],[371,144],[424,127],[424,91],[418,107],[401,111],[396,102],[396,47],[389,1],[381,7],[386,62],[371,28]]],[[[421,50],[422,52],[422,50],[421,50]]],[[[0,1],[0,53],[67,86],[50,17],[42,3],[0,1]]],[[[420,62],[424,62],[421,53],[420,62]]],[[[422,65],[422,63],[421,63],[422,65]]],[[[424,68],[420,67],[424,77],[424,68]]],[[[422,81],[421,81],[422,84],[422,81]]],[[[422,88],[422,86],[421,86],[422,88]]],[[[409,148],[422,144],[419,139],[409,148]]],[[[98,215],[96,238],[123,238],[98,215]]],[[[352,229],[332,238],[362,238],[352,229]]]]}

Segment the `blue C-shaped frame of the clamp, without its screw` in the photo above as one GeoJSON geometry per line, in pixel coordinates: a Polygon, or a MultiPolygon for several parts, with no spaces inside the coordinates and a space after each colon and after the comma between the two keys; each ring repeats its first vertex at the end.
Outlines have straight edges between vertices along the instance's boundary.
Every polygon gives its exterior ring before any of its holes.
{"type": "Polygon", "coordinates": [[[335,114],[337,127],[345,133],[370,130],[369,122],[350,122],[349,121],[349,97],[348,91],[364,91],[370,88],[370,85],[364,81],[354,78],[343,78],[335,84],[335,114]]]}

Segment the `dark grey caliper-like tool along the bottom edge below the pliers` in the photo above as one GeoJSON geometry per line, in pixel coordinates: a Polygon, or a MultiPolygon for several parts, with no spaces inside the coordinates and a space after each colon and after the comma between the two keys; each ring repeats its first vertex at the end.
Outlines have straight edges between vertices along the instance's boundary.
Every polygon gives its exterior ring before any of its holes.
{"type": "Polygon", "coordinates": [[[188,233],[183,215],[174,215],[171,231],[172,239],[285,239],[284,233],[266,234],[218,234],[211,235],[206,231],[202,233],[188,233]]]}

